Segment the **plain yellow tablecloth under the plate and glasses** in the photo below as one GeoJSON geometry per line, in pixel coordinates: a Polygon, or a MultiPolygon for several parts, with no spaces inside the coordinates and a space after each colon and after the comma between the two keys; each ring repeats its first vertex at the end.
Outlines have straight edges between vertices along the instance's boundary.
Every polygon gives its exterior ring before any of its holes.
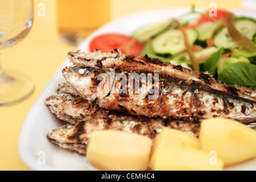
{"type": "MultiPolygon", "coordinates": [[[[86,1],[86,0],[85,0],[86,1]]],[[[112,19],[134,11],[159,7],[187,7],[195,3],[197,7],[208,8],[211,1],[138,1],[111,0],[112,19]]],[[[238,8],[241,1],[215,0],[218,7],[238,8]],[[231,3],[231,5],[230,5],[231,3]]],[[[2,52],[1,63],[5,69],[19,71],[29,76],[35,84],[33,94],[18,104],[0,107],[0,170],[29,170],[18,155],[18,138],[23,122],[31,106],[66,59],[66,53],[75,49],[67,43],[59,42],[54,0],[35,0],[34,25],[25,40],[2,52]],[[38,4],[45,3],[46,16],[37,15],[38,4]]],[[[35,121],[36,122],[36,121],[35,121]]],[[[38,141],[40,142],[40,141],[38,141]]]]}

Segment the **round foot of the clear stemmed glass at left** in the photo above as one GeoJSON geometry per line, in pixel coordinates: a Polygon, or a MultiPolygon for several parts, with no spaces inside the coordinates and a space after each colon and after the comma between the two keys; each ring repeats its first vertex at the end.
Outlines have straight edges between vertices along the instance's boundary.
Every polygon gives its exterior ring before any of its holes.
{"type": "Polygon", "coordinates": [[[34,84],[29,78],[16,72],[0,76],[0,106],[15,104],[29,97],[34,84]]]}

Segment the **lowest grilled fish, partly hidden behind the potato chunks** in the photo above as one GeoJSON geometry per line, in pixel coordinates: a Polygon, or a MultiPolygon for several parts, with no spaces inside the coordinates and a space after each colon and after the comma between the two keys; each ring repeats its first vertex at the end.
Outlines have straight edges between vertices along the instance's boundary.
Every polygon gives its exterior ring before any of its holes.
{"type": "Polygon", "coordinates": [[[88,121],[77,122],[75,125],[67,124],[58,129],[53,129],[49,131],[47,138],[59,147],[86,155],[86,148],[90,142],[90,136],[93,131],[124,131],[143,135],[154,142],[155,137],[161,133],[163,128],[181,130],[198,138],[199,126],[199,123],[189,123],[185,121],[133,118],[129,116],[120,117],[113,114],[108,118],[94,118],[88,121]]]}

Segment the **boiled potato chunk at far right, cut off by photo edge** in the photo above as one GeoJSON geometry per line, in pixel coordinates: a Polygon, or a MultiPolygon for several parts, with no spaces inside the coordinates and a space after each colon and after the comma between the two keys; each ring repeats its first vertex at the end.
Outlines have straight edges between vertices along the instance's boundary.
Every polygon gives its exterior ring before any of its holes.
{"type": "Polygon", "coordinates": [[[226,166],[256,156],[256,131],[232,119],[202,121],[199,140],[203,151],[215,151],[226,166]]]}

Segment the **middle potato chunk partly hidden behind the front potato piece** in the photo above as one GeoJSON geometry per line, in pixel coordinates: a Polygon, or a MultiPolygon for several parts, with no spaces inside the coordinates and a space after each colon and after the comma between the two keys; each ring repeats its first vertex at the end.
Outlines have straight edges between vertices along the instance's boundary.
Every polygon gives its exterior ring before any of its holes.
{"type": "Polygon", "coordinates": [[[192,147],[197,149],[201,147],[199,139],[192,135],[175,129],[163,129],[155,138],[149,168],[153,168],[159,148],[169,146],[192,147]]]}

